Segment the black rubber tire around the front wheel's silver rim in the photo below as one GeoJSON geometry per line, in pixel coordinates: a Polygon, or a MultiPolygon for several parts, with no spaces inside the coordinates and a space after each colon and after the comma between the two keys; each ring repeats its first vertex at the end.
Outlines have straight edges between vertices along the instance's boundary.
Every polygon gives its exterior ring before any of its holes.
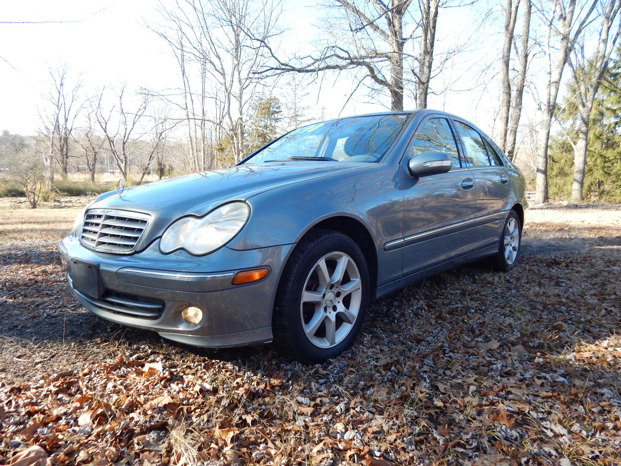
{"type": "MultiPolygon", "coordinates": [[[[320,293],[320,291],[317,292],[320,293]]],[[[343,291],[343,293],[347,292],[343,291]]],[[[345,295],[343,294],[343,296],[345,295]]],[[[322,363],[338,356],[350,347],[358,336],[365,319],[368,300],[369,273],[365,256],[360,247],[350,237],[339,232],[319,230],[309,233],[297,244],[296,249],[289,257],[276,293],[272,328],[274,342],[279,352],[305,364],[322,363]],[[361,296],[356,295],[360,299],[360,306],[355,321],[350,324],[347,335],[338,344],[332,347],[318,347],[311,342],[311,337],[307,337],[302,327],[304,325],[302,322],[302,292],[307,284],[307,278],[310,280],[318,261],[332,253],[344,253],[355,263],[360,275],[361,296]]],[[[343,304],[345,304],[345,299],[343,299],[343,304]]],[[[318,308],[324,309],[323,305],[324,301],[316,304],[318,308]]],[[[334,317],[334,319],[337,318],[334,317]]],[[[335,324],[335,328],[337,326],[338,323],[335,324]]],[[[327,331],[325,332],[327,334],[327,331]]]]}

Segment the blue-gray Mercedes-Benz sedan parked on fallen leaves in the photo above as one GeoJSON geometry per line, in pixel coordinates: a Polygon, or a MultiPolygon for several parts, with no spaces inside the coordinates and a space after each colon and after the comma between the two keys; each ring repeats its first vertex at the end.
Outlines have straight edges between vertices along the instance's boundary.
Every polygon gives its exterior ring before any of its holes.
{"type": "Polygon", "coordinates": [[[481,258],[514,267],[526,206],[520,171],[470,122],[383,112],[101,194],[58,248],[101,318],[317,363],[353,343],[370,300],[481,258]]]}

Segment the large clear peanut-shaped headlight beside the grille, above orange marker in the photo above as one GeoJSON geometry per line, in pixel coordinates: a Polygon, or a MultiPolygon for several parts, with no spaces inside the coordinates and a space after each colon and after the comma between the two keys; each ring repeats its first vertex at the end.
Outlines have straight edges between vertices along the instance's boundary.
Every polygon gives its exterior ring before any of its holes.
{"type": "Polygon", "coordinates": [[[242,202],[225,204],[202,218],[184,217],[173,223],[161,237],[162,252],[185,249],[202,255],[224,246],[246,224],[250,207],[242,202]]]}

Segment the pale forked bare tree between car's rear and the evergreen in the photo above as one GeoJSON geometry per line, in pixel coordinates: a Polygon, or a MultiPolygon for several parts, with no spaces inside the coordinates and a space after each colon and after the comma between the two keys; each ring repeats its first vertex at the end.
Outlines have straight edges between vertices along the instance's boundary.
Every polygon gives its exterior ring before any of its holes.
{"type": "Polygon", "coordinates": [[[589,0],[588,4],[578,4],[577,0],[542,0],[538,6],[538,12],[546,24],[547,59],[545,94],[540,101],[541,120],[535,173],[535,203],[538,204],[548,200],[548,144],[563,70],[599,1],[589,0]]]}

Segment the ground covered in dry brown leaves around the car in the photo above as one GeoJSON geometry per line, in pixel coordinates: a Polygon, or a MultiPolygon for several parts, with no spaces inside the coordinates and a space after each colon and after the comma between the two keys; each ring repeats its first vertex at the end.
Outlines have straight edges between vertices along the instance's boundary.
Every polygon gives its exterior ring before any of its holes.
{"type": "Polygon", "coordinates": [[[0,464],[621,464],[621,206],[530,209],[515,270],[383,298],[305,367],[88,313],[56,251],[79,204],[0,200],[0,464]]]}

